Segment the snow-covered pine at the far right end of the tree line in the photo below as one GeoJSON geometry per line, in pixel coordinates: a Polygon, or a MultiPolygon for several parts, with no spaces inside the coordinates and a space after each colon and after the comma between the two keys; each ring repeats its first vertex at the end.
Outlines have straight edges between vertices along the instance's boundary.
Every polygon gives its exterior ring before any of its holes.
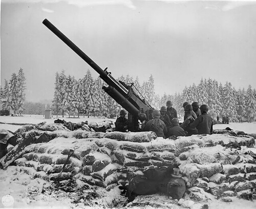
{"type": "Polygon", "coordinates": [[[256,109],[256,99],[254,96],[254,91],[251,85],[248,86],[246,91],[246,119],[248,122],[255,121],[255,109],[256,109]]]}

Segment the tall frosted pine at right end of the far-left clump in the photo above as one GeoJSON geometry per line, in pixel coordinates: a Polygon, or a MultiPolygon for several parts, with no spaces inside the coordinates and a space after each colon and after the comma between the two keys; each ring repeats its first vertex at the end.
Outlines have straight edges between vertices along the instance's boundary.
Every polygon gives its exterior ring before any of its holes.
{"type": "Polygon", "coordinates": [[[19,68],[18,75],[17,75],[17,88],[18,88],[18,98],[17,98],[17,105],[18,111],[21,114],[24,110],[24,102],[25,102],[25,90],[26,90],[26,78],[23,72],[23,68],[19,68]]]}

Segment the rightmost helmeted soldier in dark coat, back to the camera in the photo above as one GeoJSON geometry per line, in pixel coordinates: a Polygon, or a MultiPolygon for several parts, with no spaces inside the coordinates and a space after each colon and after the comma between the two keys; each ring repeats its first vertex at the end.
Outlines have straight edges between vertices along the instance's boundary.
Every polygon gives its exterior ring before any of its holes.
{"type": "Polygon", "coordinates": [[[212,126],[214,125],[214,120],[208,114],[209,107],[206,104],[200,106],[202,112],[201,115],[191,123],[191,127],[198,129],[198,134],[212,134],[212,126]]]}

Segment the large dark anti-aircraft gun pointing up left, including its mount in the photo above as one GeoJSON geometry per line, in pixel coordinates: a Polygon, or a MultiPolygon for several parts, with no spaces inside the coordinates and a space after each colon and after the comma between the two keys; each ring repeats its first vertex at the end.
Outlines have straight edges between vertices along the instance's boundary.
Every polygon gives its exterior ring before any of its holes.
{"type": "Polygon", "coordinates": [[[49,30],[51,30],[57,37],[65,42],[78,56],[86,61],[98,74],[99,77],[105,81],[109,86],[103,86],[102,89],[112,97],[118,104],[120,104],[126,111],[128,111],[128,130],[138,131],[139,120],[151,119],[151,113],[154,110],[145,99],[141,99],[133,90],[133,84],[127,85],[122,81],[117,81],[112,77],[111,73],[104,71],[86,54],[84,54],[69,38],[61,33],[51,22],[47,19],[42,21],[49,30]],[[146,117],[146,118],[145,118],[146,117]]]}

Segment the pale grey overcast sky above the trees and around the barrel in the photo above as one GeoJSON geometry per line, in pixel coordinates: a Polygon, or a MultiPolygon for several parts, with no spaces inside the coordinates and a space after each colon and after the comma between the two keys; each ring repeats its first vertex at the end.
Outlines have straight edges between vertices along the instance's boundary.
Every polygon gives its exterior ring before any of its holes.
{"type": "Polygon", "coordinates": [[[155,78],[175,94],[201,78],[256,88],[256,2],[2,0],[1,85],[24,69],[26,99],[53,99],[55,73],[82,78],[86,62],[55,36],[47,18],[115,78],[155,78]]]}

